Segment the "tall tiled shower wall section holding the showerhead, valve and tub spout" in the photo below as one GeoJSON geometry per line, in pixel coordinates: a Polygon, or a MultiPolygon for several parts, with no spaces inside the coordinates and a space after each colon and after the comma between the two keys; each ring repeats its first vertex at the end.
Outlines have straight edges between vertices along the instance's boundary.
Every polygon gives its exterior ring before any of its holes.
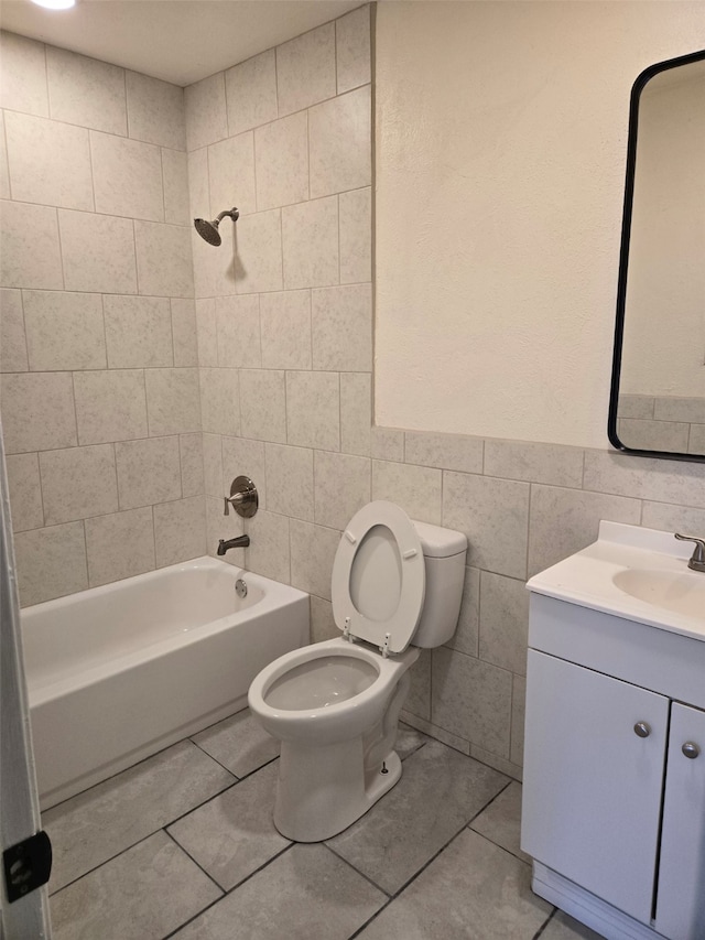
{"type": "Polygon", "coordinates": [[[369,8],[189,86],[186,119],[192,214],[240,210],[220,248],[193,236],[208,548],[245,526],[227,560],[311,591],[319,638],[371,494],[369,8]]]}

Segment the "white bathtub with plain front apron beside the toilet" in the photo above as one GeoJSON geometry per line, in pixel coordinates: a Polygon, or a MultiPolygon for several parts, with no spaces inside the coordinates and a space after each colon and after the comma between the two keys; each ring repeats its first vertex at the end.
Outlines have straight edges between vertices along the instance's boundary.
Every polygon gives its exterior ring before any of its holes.
{"type": "Polygon", "coordinates": [[[42,809],[243,709],[308,624],[307,594],[212,558],[24,608],[42,809]]]}

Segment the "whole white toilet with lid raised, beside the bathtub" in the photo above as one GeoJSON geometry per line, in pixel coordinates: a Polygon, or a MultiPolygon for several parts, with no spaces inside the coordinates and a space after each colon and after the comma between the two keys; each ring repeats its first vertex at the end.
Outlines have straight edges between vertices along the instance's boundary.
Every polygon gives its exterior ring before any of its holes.
{"type": "Polygon", "coordinates": [[[453,636],[467,539],[369,503],[347,525],[332,575],[343,636],[288,652],[250,685],[256,720],[281,742],[274,825],[329,839],[401,777],[399,713],[420,648],[453,636]]]}

